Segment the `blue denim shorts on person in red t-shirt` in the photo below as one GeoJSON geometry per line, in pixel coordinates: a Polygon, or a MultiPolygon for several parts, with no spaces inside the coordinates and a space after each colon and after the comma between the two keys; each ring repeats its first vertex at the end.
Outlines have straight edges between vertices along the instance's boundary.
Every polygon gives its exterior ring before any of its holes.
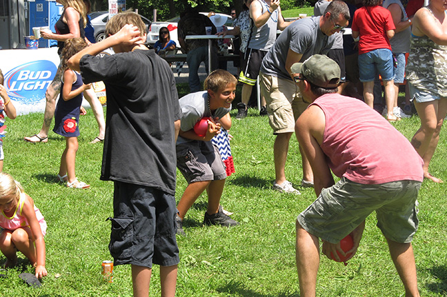
{"type": "Polygon", "coordinates": [[[394,78],[393,53],[388,48],[359,54],[359,74],[362,83],[374,81],[376,70],[384,81],[391,81],[394,78]]]}

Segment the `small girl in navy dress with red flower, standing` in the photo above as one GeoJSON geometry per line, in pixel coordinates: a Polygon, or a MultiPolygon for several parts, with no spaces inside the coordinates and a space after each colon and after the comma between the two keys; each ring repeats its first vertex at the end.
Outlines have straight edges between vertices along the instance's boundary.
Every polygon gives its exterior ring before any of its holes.
{"type": "Polygon", "coordinates": [[[84,85],[79,72],[71,70],[67,61],[74,54],[86,48],[87,43],[81,38],[68,39],[63,47],[61,63],[63,76],[61,97],[57,101],[54,112],[54,133],[66,138],[66,149],[62,153],[61,165],[57,177],[61,182],[67,182],[67,187],[75,189],[88,189],[90,185],[78,181],[75,173],[76,153],[79,147],[79,114],[82,103],[82,92],[92,87],[89,83],[84,85]]]}

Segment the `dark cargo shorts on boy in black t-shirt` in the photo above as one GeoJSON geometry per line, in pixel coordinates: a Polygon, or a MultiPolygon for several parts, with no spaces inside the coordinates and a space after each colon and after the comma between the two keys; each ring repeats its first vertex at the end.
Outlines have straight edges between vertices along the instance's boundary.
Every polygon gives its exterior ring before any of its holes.
{"type": "Polygon", "coordinates": [[[115,265],[177,265],[176,214],[175,196],[115,181],[109,244],[115,265]]]}

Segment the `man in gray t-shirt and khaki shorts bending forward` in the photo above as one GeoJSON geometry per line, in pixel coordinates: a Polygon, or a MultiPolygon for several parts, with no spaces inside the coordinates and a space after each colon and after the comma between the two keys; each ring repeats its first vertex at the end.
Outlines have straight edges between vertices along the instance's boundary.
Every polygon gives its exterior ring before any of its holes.
{"type": "MultiPolygon", "coordinates": [[[[273,134],[275,157],[275,183],[279,192],[299,194],[286,180],[285,167],[290,136],[295,131],[295,121],[308,106],[297,93],[295,74],[290,72],[294,63],[306,61],[313,54],[326,54],[334,42],[335,32],[348,25],[349,9],[343,1],[332,1],[324,15],[295,21],[279,35],[262,61],[259,81],[261,95],[265,96],[267,112],[273,134]]],[[[301,149],[300,149],[301,150],[301,149]]],[[[303,181],[301,185],[313,186],[312,169],[304,153],[303,181]]]]}

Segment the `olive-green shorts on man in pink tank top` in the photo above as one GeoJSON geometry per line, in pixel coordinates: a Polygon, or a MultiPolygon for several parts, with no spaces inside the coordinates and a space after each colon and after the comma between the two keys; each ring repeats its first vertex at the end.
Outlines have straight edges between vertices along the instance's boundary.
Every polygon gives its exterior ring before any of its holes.
{"type": "Polygon", "coordinates": [[[347,178],[323,189],[297,221],[307,232],[338,243],[376,212],[377,227],[397,243],[410,243],[417,230],[419,181],[395,181],[380,185],[353,183],[347,178]]]}

